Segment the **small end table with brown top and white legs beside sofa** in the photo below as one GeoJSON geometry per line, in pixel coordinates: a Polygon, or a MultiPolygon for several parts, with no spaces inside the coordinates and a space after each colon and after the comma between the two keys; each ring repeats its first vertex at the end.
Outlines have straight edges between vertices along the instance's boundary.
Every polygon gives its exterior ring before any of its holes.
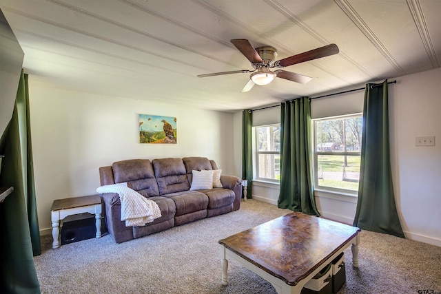
{"type": "Polygon", "coordinates": [[[101,238],[101,198],[98,195],[74,198],[57,199],[52,202],[50,218],[52,220],[52,248],[60,246],[60,220],[67,216],[79,213],[92,213],[95,215],[96,238],[101,238]]]}

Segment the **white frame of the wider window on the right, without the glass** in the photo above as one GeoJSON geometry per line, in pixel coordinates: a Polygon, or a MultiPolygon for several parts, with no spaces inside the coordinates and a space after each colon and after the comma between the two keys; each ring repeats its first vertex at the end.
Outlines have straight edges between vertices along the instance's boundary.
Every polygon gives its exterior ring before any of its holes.
{"type": "MultiPolygon", "coordinates": [[[[338,119],[346,119],[346,118],[356,118],[356,117],[360,117],[363,123],[363,114],[361,112],[358,113],[354,113],[354,114],[345,114],[345,115],[341,115],[341,116],[327,116],[327,117],[322,117],[322,118],[314,118],[311,120],[311,129],[313,130],[312,132],[312,146],[313,146],[313,177],[314,177],[314,189],[316,191],[326,191],[326,192],[330,192],[330,193],[339,193],[339,194],[343,194],[343,195],[351,195],[351,196],[358,196],[358,191],[356,190],[351,190],[351,189],[344,189],[344,188],[336,188],[336,187],[327,187],[327,186],[320,186],[318,184],[318,156],[319,155],[328,155],[328,156],[360,156],[360,160],[361,160],[361,146],[359,151],[317,151],[317,142],[316,142],[316,122],[320,121],[320,120],[338,120],[338,119]]],[[[360,142],[361,144],[361,142],[360,142]]],[[[360,179],[359,179],[360,180],[360,179]]],[[[360,183],[360,182],[359,182],[360,183]]]]}

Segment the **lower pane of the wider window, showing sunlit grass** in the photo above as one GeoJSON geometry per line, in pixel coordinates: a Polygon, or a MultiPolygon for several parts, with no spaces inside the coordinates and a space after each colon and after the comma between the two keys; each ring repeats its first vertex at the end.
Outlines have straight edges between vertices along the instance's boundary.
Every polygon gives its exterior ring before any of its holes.
{"type": "Polygon", "coordinates": [[[360,156],[318,155],[318,185],[358,191],[360,156]]]}

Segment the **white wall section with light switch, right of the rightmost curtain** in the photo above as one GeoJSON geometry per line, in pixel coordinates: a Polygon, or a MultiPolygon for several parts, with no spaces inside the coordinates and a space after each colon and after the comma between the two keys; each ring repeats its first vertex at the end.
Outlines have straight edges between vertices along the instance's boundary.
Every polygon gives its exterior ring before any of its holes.
{"type": "Polygon", "coordinates": [[[398,78],[389,101],[391,165],[408,238],[441,246],[441,68],[398,78]],[[417,136],[435,146],[416,147],[417,136]]]}

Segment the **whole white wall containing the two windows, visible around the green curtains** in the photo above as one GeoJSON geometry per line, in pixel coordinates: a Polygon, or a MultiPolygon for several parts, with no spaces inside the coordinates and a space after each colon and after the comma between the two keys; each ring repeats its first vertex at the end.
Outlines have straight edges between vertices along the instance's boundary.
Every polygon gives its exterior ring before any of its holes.
{"type": "MultiPolygon", "coordinates": [[[[441,246],[441,68],[402,76],[397,81],[389,85],[389,132],[402,229],[406,238],[441,246]],[[416,147],[416,136],[435,136],[436,145],[416,147]]],[[[364,91],[360,91],[313,100],[311,116],[361,112],[363,98],[364,91]]],[[[273,186],[253,184],[253,198],[276,204],[278,191],[273,186]]],[[[322,216],[349,224],[355,216],[356,200],[351,195],[316,192],[322,216]]]]}

